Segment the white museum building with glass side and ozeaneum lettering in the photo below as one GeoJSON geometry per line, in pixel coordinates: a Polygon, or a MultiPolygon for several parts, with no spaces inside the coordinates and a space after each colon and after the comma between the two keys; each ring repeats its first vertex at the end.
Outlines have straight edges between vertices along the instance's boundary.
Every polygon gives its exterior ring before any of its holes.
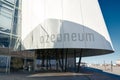
{"type": "Polygon", "coordinates": [[[0,0],[0,71],[79,72],[113,52],[98,0],[0,0]]]}

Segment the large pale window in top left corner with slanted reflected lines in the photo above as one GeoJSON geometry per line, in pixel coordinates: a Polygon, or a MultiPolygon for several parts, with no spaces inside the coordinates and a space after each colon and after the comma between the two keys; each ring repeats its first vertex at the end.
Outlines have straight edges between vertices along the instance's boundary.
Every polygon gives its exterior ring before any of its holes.
{"type": "Polygon", "coordinates": [[[10,33],[14,9],[5,0],[0,1],[0,31],[10,33]]]}

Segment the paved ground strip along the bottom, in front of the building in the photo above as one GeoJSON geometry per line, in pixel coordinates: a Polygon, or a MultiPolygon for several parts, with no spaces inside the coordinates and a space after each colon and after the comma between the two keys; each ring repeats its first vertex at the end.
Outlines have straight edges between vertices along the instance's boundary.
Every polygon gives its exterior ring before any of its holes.
{"type": "Polygon", "coordinates": [[[120,80],[101,73],[11,73],[0,74],[0,80],[120,80]]]}

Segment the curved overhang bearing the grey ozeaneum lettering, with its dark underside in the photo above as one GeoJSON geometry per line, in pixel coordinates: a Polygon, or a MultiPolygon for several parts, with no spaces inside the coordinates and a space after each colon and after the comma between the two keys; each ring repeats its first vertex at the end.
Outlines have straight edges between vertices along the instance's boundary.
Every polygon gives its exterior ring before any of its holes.
{"type": "Polygon", "coordinates": [[[22,50],[76,50],[79,56],[103,55],[114,52],[111,42],[93,29],[66,20],[47,19],[33,29],[22,42],[22,50]]]}

